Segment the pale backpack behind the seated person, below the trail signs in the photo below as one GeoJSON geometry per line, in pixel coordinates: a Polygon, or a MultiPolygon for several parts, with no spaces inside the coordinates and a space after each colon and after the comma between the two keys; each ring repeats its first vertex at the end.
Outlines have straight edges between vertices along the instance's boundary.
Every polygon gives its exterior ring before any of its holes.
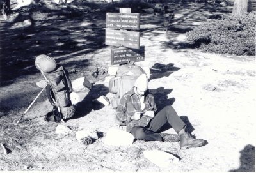
{"type": "Polygon", "coordinates": [[[111,100],[113,109],[117,109],[122,96],[134,87],[134,82],[143,73],[143,68],[134,65],[132,61],[118,67],[115,77],[109,80],[109,92],[116,94],[111,100]]]}

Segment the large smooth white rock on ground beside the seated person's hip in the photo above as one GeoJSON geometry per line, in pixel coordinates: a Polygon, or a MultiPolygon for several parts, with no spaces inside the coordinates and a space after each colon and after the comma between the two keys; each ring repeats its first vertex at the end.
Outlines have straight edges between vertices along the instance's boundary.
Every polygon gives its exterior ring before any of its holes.
{"type": "Polygon", "coordinates": [[[134,137],[131,133],[117,128],[109,128],[104,144],[107,146],[131,146],[133,140],[134,137]]]}

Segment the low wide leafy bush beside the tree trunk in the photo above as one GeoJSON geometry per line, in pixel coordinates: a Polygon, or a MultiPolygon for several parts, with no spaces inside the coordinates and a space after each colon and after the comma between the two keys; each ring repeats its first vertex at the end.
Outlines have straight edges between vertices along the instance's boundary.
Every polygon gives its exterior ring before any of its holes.
{"type": "Polygon", "coordinates": [[[187,33],[188,41],[204,52],[255,55],[255,13],[222,15],[187,33]]]}

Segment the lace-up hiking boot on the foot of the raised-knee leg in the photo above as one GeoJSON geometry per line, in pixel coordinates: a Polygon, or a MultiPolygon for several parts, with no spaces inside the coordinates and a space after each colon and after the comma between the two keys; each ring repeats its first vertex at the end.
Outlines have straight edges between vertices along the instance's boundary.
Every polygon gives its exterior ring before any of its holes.
{"type": "Polygon", "coordinates": [[[189,149],[191,147],[201,147],[204,146],[205,140],[195,139],[186,132],[183,135],[180,135],[180,149],[189,149]]]}

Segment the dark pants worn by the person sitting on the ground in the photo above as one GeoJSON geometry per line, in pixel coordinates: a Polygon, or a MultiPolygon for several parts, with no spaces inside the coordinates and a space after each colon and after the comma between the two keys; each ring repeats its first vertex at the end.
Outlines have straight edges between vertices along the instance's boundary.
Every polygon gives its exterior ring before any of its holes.
{"type": "Polygon", "coordinates": [[[180,119],[172,106],[166,106],[156,114],[147,126],[134,126],[131,130],[132,135],[137,140],[163,141],[159,133],[169,128],[173,128],[179,133],[186,124],[180,119]]]}

